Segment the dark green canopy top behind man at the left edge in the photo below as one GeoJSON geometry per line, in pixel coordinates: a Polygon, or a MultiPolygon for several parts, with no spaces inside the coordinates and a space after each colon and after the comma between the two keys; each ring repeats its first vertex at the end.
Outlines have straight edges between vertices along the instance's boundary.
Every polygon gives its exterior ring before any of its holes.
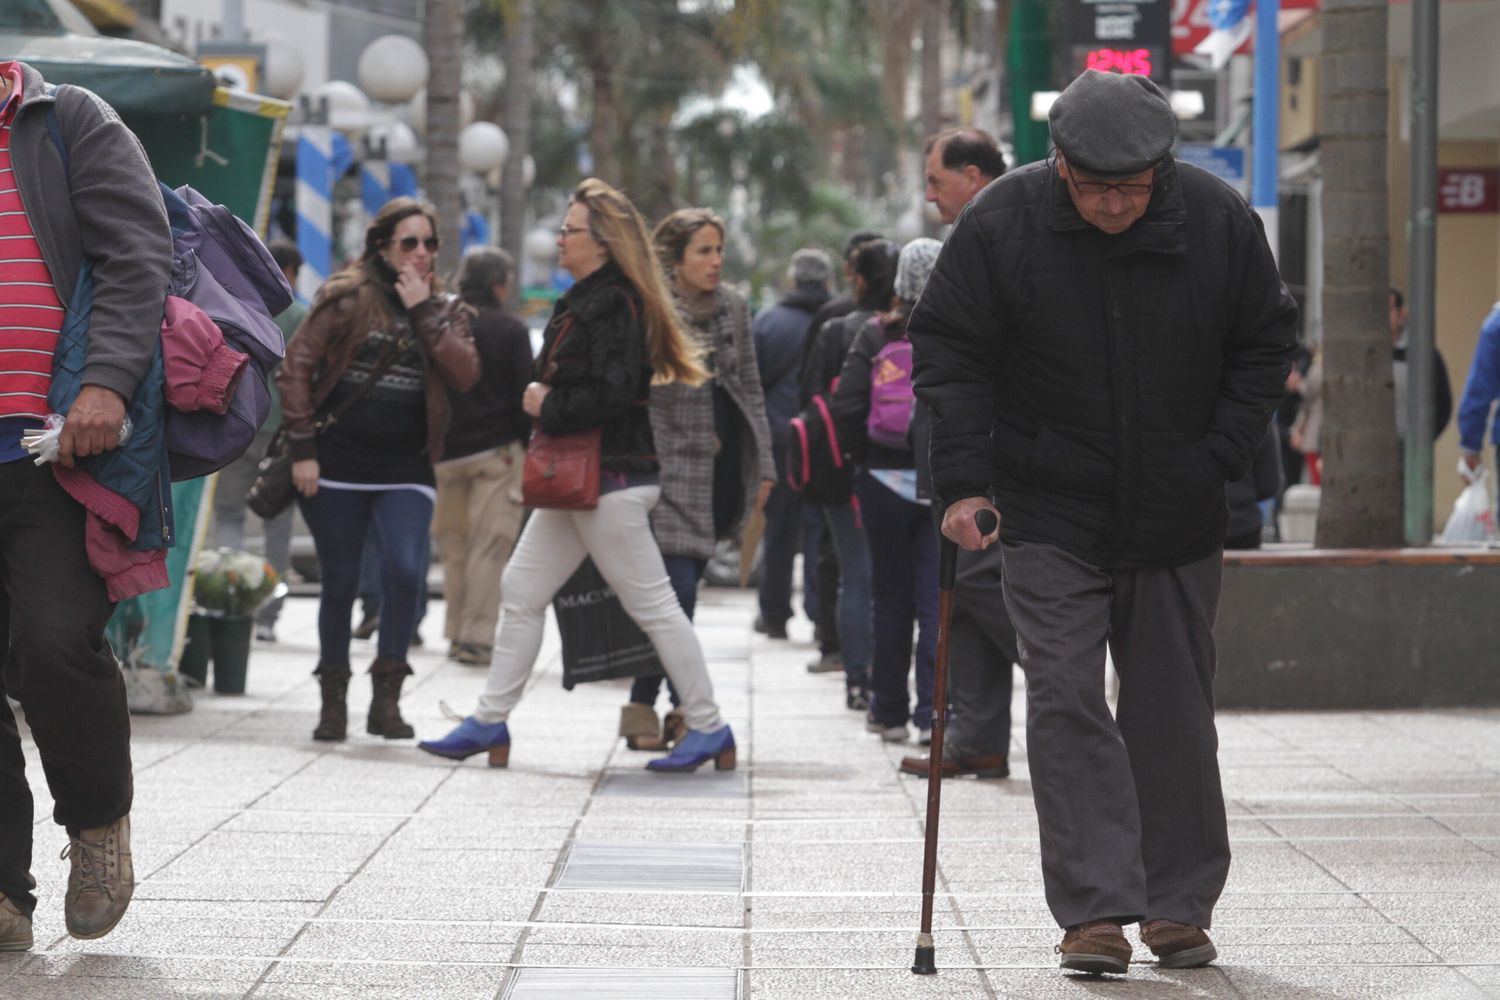
{"type": "Polygon", "coordinates": [[[34,66],[50,84],[87,87],[126,118],[202,114],[213,103],[213,73],[159,45],[105,36],[0,33],[0,60],[12,58],[34,66]]]}

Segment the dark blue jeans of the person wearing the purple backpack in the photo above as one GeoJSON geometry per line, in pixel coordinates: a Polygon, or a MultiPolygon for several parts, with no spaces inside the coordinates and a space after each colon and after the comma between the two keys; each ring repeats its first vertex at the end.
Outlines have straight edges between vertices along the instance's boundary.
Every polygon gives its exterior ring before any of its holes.
{"type": "Polygon", "coordinates": [[[932,726],[938,661],[938,534],[932,508],[908,501],[868,472],[860,474],[864,528],[874,571],[874,660],[870,666],[870,717],[882,726],[908,720],[932,726]],[[906,678],[916,624],[916,711],[906,678]]]}

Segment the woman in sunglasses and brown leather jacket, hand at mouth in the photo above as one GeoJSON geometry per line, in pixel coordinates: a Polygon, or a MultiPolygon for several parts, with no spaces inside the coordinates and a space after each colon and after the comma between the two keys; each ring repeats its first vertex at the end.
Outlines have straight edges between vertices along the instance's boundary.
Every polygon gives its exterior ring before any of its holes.
{"type": "Polygon", "coordinates": [[[364,253],[328,279],[278,384],[291,439],[292,484],[322,574],[314,739],[346,735],[350,615],[360,552],[374,528],[381,552],[381,628],[370,666],[366,732],[408,739],[400,685],[411,675],[417,600],[426,579],[428,528],[442,457],[447,388],[478,379],[470,309],[441,292],[432,265],[436,213],[414,198],[386,204],[364,231],[364,253]],[[330,420],[330,417],[333,417],[330,420]]]}

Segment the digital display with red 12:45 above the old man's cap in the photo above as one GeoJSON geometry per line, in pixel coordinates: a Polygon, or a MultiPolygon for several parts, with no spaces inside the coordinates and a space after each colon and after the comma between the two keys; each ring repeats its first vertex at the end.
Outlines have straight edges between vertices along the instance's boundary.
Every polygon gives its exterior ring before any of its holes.
{"type": "Polygon", "coordinates": [[[1059,85],[1086,69],[1168,82],[1172,0],[1066,0],[1059,10],[1059,85]]]}

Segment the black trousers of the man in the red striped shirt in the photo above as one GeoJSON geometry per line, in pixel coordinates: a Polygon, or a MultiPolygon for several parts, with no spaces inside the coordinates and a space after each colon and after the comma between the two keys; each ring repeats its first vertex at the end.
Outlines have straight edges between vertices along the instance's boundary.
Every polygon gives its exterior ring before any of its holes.
{"type": "Polygon", "coordinates": [[[84,508],[30,459],[0,465],[0,892],[32,895],[32,816],[15,715],[21,703],[52,819],[70,834],[130,811],[130,715],[104,637],[114,604],[84,549],[84,508]]]}

